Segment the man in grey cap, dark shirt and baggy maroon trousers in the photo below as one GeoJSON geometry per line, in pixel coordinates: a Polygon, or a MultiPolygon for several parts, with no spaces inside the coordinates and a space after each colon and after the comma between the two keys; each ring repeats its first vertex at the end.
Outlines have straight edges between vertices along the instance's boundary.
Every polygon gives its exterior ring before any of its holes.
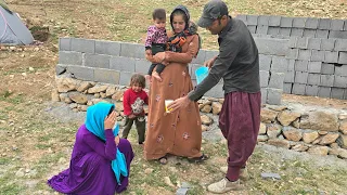
{"type": "Polygon", "coordinates": [[[260,126],[258,49],[246,25],[228,14],[228,6],[220,0],[205,5],[197,25],[218,35],[219,54],[205,62],[209,74],[195,90],[169,105],[172,112],[185,108],[223,78],[219,128],[228,141],[228,171],[226,178],[207,187],[213,193],[240,190],[240,174],[254,151],[260,126]]]}

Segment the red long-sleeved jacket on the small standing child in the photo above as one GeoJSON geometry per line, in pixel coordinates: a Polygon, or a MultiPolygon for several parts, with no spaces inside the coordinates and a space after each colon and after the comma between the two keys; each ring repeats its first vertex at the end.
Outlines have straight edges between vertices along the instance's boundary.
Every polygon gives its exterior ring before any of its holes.
{"type": "Polygon", "coordinates": [[[144,115],[143,105],[149,104],[147,93],[143,90],[134,92],[131,88],[124,92],[123,106],[124,114],[129,116],[144,115]]]}

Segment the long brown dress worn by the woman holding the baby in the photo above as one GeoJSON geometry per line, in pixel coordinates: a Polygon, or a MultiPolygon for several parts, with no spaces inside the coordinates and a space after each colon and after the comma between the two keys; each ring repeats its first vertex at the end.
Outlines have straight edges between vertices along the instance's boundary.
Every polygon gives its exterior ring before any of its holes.
{"type": "MultiPolygon", "coordinates": [[[[197,103],[184,109],[165,113],[165,100],[176,100],[193,90],[188,64],[198,51],[198,36],[188,36],[181,53],[166,52],[169,62],[162,73],[163,81],[152,79],[149,102],[144,158],[158,159],[166,154],[200,157],[202,126],[197,103]]],[[[153,57],[147,60],[154,62],[153,57]]]]}

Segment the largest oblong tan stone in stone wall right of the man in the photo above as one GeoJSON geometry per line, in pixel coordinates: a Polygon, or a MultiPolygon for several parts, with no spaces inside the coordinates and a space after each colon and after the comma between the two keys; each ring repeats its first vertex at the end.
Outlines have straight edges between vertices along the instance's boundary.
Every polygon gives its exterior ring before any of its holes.
{"type": "Polygon", "coordinates": [[[301,129],[314,129],[323,131],[338,131],[336,114],[325,112],[311,112],[308,116],[301,116],[301,129]]]}

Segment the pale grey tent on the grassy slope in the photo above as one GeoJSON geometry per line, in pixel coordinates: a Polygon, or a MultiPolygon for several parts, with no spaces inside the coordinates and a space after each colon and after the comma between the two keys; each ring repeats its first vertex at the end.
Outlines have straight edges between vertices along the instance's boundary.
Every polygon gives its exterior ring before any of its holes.
{"type": "Polygon", "coordinates": [[[0,44],[30,44],[34,37],[18,15],[0,0],[0,44]]]}

